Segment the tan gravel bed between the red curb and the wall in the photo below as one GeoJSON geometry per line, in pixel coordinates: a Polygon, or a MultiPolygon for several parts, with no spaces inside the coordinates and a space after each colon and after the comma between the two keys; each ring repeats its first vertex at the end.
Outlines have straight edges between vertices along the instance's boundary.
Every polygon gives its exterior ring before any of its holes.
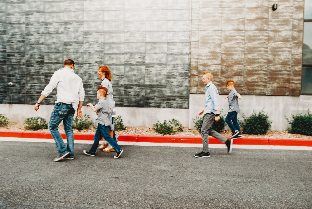
{"type": "MultiPolygon", "coordinates": [[[[78,131],[73,129],[74,133],[82,134],[94,134],[95,128],[90,126],[88,130],[78,131]]],[[[22,123],[9,123],[8,126],[0,127],[0,131],[27,131],[22,123]]],[[[59,131],[64,132],[63,126],[59,126],[59,131]]],[[[49,132],[48,129],[41,129],[38,132],[49,132]]],[[[126,127],[125,131],[116,131],[118,134],[129,134],[129,135],[158,135],[152,128],[147,127],[126,127]]],[[[232,132],[230,130],[224,130],[222,133],[225,137],[230,137],[232,132]]],[[[200,133],[197,130],[189,130],[184,128],[182,132],[174,134],[174,136],[199,136],[200,133]]],[[[242,134],[243,138],[266,138],[266,139],[312,139],[312,136],[306,136],[301,134],[290,134],[288,131],[268,131],[265,135],[247,135],[242,134]]]]}

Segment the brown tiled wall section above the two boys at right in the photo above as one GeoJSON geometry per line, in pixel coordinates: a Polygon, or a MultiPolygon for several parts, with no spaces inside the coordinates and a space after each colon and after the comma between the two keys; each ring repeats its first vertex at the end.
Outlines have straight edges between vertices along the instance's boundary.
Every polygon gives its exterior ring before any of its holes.
{"type": "Polygon", "coordinates": [[[193,0],[190,93],[212,72],[220,94],[300,95],[304,0],[193,0]],[[278,3],[277,10],[272,5],[278,3]]]}

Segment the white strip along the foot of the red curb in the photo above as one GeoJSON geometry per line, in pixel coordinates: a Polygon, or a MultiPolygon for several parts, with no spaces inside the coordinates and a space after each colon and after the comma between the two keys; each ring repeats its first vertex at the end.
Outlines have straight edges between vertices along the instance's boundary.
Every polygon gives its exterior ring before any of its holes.
{"type": "MultiPolygon", "coordinates": [[[[53,139],[33,139],[33,138],[14,138],[0,137],[1,141],[21,141],[21,142],[46,142],[55,143],[53,139]]],[[[64,140],[67,143],[67,140],[64,140]]],[[[102,141],[100,141],[101,143],[102,141]]],[[[74,140],[75,144],[93,144],[92,140],[74,140]]],[[[126,142],[119,141],[119,145],[134,146],[160,146],[160,147],[202,147],[202,144],[186,144],[186,143],[153,143],[153,142],[126,142]]],[[[226,148],[225,145],[209,144],[209,148],[226,148]]],[[[272,145],[233,145],[234,149],[259,149],[259,150],[311,150],[312,147],[305,146],[272,146],[272,145]]]]}

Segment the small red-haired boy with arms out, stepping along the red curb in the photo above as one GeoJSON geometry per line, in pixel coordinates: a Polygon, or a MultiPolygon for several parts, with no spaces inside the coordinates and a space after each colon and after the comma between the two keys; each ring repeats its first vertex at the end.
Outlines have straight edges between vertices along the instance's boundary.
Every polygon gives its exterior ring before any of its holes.
{"type": "Polygon", "coordinates": [[[237,113],[239,113],[238,99],[243,99],[235,89],[234,81],[227,82],[227,90],[230,91],[229,95],[225,98],[229,98],[229,112],[225,118],[225,122],[232,130],[232,139],[241,139],[241,129],[237,122],[237,113]]]}

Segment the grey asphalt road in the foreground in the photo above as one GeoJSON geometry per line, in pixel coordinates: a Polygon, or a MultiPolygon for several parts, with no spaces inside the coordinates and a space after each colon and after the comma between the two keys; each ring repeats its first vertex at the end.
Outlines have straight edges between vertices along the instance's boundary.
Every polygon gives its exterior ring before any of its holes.
{"type": "Polygon", "coordinates": [[[123,145],[53,162],[54,143],[0,141],[0,208],[312,208],[312,152],[123,145]]]}

